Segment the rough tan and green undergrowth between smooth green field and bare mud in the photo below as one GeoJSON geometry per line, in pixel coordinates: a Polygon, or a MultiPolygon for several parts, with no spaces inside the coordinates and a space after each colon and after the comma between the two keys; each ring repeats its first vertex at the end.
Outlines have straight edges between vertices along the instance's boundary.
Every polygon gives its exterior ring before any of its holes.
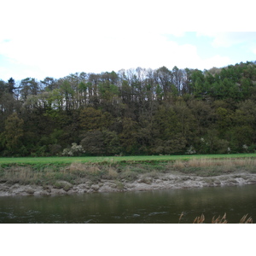
{"type": "Polygon", "coordinates": [[[162,162],[113,162],[104,163],[35,163],[2,164],[0,182],[22,184],[53,184],[58,180],[79,183],[81,179],[92,182],[101,179],[133,182],[138,177],[148,180],[157,178],[162,173],[180,172],[187,175],[212,177],[237,171],[256,172],[255,158],[241,159],[190,159],[162,162]]]}

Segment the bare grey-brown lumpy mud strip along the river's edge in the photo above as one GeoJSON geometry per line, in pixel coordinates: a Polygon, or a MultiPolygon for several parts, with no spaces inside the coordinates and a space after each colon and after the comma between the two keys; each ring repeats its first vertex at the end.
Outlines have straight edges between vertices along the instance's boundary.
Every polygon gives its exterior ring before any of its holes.
{"type": "Polygon", "coordinates": [[[143,191],[153,189],[189,189],[218,186],[238,186],[256,183],[256,174],[237,172],[214,177],[191,176],[185,174],[161,173],[159,177],[139,176],[137,180],[101,179],[97,182],[83,180],[73,185],[59,181],[57,185],[21,185],[0,183],[0,196],[13,195],[73,195],[82,193],[143,191]]]}

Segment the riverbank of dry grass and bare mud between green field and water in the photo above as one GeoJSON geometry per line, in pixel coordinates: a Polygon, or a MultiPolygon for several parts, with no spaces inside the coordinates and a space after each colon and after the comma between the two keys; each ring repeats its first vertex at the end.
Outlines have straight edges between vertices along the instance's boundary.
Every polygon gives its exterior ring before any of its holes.
{"type": "Polygon", "coordinates": [[[0,196],[189,189],[256,183],[256,160],[11,164],[1,166],[0,174],[0,196]]]}

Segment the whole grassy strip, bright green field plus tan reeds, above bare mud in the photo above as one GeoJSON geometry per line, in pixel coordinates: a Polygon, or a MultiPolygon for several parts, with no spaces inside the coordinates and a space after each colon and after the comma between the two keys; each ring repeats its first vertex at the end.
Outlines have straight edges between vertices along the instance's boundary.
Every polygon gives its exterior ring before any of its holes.
{"type": "Polygon", "coordinates": [[[0,159],[0,182],[56,187],[60,180],[79,184],[108,179],[122,186],[138,178],[150,183],[164,173],[212,177],[238,171],[256,173],[255,154],[0,159]]]}

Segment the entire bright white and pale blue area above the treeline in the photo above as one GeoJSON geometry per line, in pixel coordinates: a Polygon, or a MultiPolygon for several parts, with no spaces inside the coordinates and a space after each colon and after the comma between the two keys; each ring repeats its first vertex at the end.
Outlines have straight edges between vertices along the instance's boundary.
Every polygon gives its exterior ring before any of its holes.
{"type": "Polygon", "coordinates": [[[253,1],[2,0],[0,79],[256,61],[253,1]],[[250,8],[251,6],[251,8],[250,8]]]}

